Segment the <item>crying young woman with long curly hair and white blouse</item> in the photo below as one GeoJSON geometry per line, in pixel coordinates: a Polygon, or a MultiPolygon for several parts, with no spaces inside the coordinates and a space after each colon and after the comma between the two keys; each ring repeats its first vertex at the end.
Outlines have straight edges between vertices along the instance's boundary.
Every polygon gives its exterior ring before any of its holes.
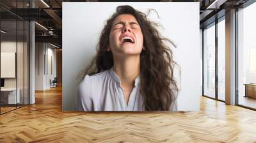
{"type": "Polygon", "coordinates": [[[118,6],[78,87],[77,110],[177,110],[172,50],[147,16],[118,6]]]}

